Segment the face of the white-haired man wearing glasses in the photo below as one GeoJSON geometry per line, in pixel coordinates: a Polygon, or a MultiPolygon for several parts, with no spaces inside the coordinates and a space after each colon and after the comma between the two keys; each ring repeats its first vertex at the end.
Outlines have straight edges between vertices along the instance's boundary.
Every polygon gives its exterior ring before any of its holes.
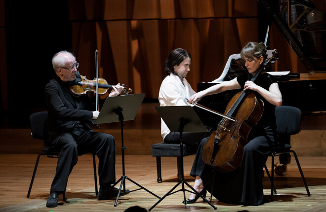
{"type": "Polygon", "coordinates": [[[76,59],[74,56],[70,54],[65,54],[63,55],[63,57],[65,58],[65,66],[62,68],[58,68],[57,74],[59,75],[62,81],[65,82],[73,81],[76,78],[76,72],[77,72],[76,59]]]}

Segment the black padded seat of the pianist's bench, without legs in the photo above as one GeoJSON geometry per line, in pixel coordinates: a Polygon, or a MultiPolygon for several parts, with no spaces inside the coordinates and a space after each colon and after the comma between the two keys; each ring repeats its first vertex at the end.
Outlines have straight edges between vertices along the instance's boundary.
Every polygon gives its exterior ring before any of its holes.
{"type": "MultiPolygon", "coordinates": [[[[196,154],[198,145],[183,144],[183,156],[196,154]]],[[[153,157],[179,157],[180,144],[178,143],[155,143],[152,145],[153,157]]]]}

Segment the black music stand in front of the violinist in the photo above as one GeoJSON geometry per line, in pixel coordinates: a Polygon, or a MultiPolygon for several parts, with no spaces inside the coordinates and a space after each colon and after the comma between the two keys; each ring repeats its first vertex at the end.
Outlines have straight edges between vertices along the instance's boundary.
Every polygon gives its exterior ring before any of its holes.
{"type": "Polygon", "coordinates": [[[125,179],[128,179],[135,185],[137,185],[138,189],[132,190],[137,191],[140,189],[144,189],[145,191],[149,192],[150,194],[154,195],[155,197],[159,198],[156,194],[151,192],[150,190],[144,188],[143,186],[139,185],[132,179],[128,178],[125,176],[125,171],[124,171],[124,150],[127,148],[126,146],[123,146],[123,121],[129,121],[133,120],[136,116],[136,113],[140,107],[140,104],[142,103],[143,99],[145,97],[145,94],[129,94],[129,95],[122,95],[122,96],[117,96],[117,97],[109,97],[106,98],[102,108],[101,112],[98,115],[95,124],[103,124],[103,123],[111,123],[111,122],[118,122],[120,121],[121,123],[121,151],[122,151],[122,176],[120,179],[113,184],[113,187],[116,186],[120,181],[120,188],[119,192],[117,195],[116,202],[114,206],[117,206],[118,199],[122,190],[122,184],[123,184],[123,191],[125,191],[125,179]],[[123,111],[123,114],[122,114],[123,111]]]}

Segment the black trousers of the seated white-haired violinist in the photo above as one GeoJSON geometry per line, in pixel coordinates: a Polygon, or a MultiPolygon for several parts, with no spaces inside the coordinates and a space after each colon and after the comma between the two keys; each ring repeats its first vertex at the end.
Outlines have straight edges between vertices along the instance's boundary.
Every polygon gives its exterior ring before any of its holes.
{"type": "Polygon", "coordinates": [[[72,133],[62,134],[54,148],[60,152],[50,193],[66,191],[68,177],[78,161],[78,153],[90,152],[97,155],[100,190],[107,190],[115,183],[116,155],[113,136],[77,127],[72,133]]]}

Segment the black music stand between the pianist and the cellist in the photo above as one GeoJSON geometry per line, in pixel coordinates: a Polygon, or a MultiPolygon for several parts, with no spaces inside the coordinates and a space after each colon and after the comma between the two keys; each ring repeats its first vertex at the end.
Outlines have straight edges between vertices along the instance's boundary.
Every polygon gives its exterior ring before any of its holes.
{"type": "Polygon", "coordinates": [[[186,201],[186,194],[185,191],[190,193],[196,193],[199,195],[205,202],[207,202],[213,209],[216,210],[216,207],[212,205],[206,198],[196,191],[191,185],[188,184],[184,180],[184,173],[183,173],[183,143],[182,143],[182,133],[200,133],[200,132],[207,132],[206,128],[204,127],[203,122],[196,114],[195,110],[192,106],[156,106],[155,107],[160,116],[162,117],[163,121],[167,125],[168,129],[171,132],[179,132],[180,133],[180,170],[181,170],[181,177],[179,178],[179,182],[169,190],[157,203],[155,203],[148,211],[151,211],[155,206],[157,206],[165,197],[172,195],[176,192],[183,191],[183,198],[185,201],[185,205],[187,205],[186,201]],[[176,187],[181,184],[181,189],[172,192],[176,187]],[[193,190],[189,191],[185,189],[184,184],[186,184],[189,188],[193,190]]]}

